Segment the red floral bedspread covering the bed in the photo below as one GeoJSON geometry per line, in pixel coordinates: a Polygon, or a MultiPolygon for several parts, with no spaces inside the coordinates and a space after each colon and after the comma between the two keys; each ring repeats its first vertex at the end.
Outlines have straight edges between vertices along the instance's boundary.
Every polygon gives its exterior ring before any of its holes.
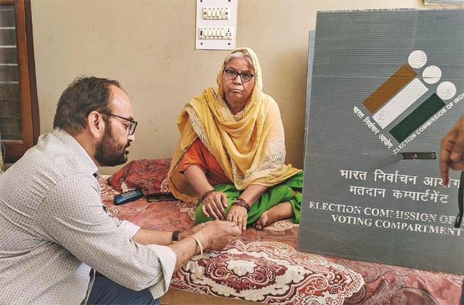
{"type": "MultiPolygon", "coordinates": [[[[113,198],[119,192],[105,178],[100,177],[101,195],[111,216],[166,231],[194,225],[194,203],[142,198],[115,206],[113,198]]],[[[173,275],[171,286],[266,304],[459,302],[463,275],[306,254],[295,250],[297,240],[298,225],[289,220],[262,231],[250,227],[225,250],[205,252],[200,260],[194,257],[173,275]]]]}

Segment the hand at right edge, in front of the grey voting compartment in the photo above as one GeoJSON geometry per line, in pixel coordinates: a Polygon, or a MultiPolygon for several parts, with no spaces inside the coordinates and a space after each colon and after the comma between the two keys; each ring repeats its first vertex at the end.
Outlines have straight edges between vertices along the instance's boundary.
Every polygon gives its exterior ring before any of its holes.
{"type": "Polygon", "coordinates": [[[464,116],[443,137],[440,148],[440,174],[448,185],[449,168],[464,171],[464,116]]]}

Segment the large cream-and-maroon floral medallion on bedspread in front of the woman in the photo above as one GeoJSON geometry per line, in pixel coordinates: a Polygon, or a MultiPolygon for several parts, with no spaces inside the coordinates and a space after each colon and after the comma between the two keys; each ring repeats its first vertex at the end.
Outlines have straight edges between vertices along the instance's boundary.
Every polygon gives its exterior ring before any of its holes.
{"type": "Polygon", "coordinates": [[[284,243],[238,240],[193,257],[171,286],[265,304],[343,304],[364,285],[361,275],[284,243]]]}

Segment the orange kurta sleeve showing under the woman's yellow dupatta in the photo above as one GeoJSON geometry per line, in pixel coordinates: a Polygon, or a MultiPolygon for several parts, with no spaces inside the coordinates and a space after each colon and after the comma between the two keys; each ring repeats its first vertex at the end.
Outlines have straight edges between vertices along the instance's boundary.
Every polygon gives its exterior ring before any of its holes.
{"type": "Polygon", "coordinates": [[[200,139],[196,139],[192,145],[186,150],[184,156],[179,162],[177,171],[184,173],[184,171],[190,165],[196,165],[202,168],[206,175],[206,179],[209,184],[215,185],[219,183],[233,184],[229,178],[227,178],[224,170],[221,168],[215,157],[210,151],[204,146],[200,139]]]}

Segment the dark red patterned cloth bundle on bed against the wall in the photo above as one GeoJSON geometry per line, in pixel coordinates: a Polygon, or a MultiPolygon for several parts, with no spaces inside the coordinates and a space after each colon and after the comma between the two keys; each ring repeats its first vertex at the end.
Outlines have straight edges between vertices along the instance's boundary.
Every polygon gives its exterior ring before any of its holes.
{"type": "Polygon", "coordinates": [[[108,182],[120,192],[140,189],[144,195],[170,193],[166,180],[170,164],[170,158],[134,160],[109,177],[108,182]]]}

